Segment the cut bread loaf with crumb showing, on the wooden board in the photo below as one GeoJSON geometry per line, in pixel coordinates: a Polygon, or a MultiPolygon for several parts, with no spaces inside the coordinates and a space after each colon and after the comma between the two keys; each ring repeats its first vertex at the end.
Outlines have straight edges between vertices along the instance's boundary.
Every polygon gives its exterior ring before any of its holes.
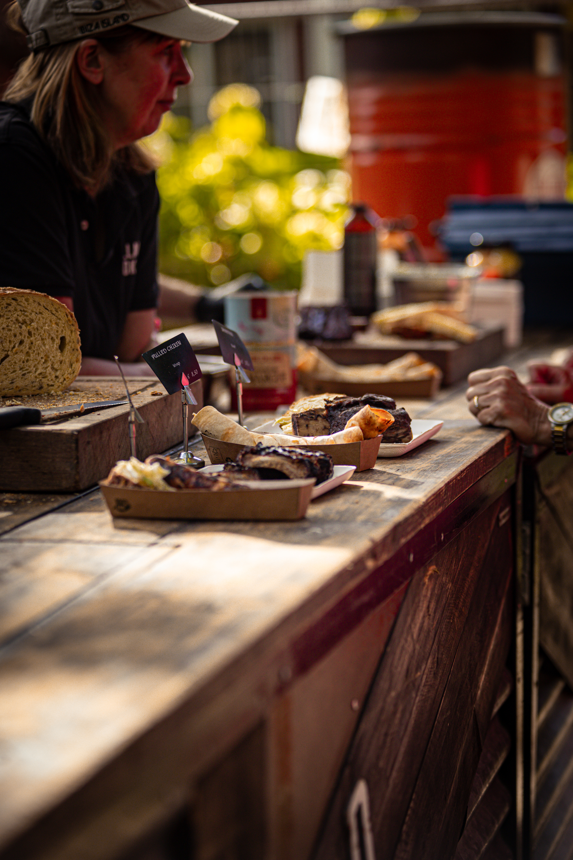
{"type": "Polygon", "coordinates": [[[0,287],[0,396],[58,393],[81,364],[80,330],[64,304],[0,287]]]}

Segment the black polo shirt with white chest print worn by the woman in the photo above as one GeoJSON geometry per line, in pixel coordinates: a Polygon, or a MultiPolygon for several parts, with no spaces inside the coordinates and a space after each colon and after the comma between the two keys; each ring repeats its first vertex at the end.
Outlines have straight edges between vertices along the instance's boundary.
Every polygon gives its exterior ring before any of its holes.
{"type": "Polygon", "coordinates": [[[127,314],[156,306],[158,210],[153,174],[77,189],[26,108],[0,102],[0,286],[73,298],[83,355],[111,359],[127,314]]]}

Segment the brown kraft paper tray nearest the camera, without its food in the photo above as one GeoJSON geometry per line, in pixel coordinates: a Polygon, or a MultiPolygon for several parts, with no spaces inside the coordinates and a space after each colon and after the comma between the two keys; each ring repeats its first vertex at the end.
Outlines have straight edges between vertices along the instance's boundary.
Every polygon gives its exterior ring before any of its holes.
{"type": "Polygon", "coordinates": [[[146,489],[100,482],[113,517],[136,519],[302,519],[314,487],[303,481],[265,481],[237,490],[146,489]]]}

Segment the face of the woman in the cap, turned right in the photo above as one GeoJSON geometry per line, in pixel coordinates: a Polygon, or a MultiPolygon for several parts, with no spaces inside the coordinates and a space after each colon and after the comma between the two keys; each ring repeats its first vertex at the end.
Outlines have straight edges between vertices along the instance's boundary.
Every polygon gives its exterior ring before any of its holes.
{"type": "Polygon", "coordinates": [[[132,42],[119,54],[103,52],[101,113],[115,149],[156,131],[177,87],[192,71],[174,39],[132,42]]]}

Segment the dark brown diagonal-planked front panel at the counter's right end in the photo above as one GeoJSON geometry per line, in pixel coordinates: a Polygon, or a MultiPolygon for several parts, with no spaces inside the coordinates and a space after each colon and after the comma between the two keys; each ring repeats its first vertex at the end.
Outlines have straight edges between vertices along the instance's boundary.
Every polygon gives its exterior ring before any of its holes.
{"type": "Polygon", "coordinates": [[[376,860],[454,856],[511,638],[509,504],[503,494],[411,581],[315,860],[350,857],[361,779],[376,860]]]}

